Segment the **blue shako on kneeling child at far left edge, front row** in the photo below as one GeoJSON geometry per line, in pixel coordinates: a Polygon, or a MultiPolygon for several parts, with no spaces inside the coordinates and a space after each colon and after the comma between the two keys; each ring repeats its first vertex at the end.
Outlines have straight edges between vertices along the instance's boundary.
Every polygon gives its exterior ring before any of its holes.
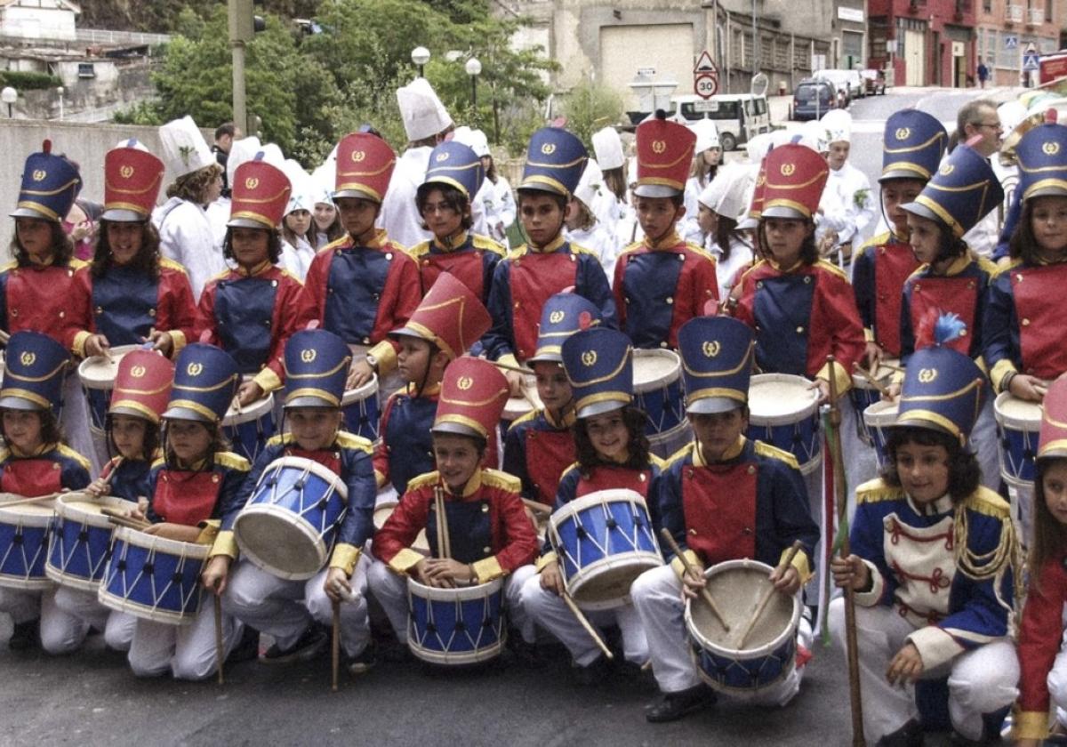
{"type": "Polygon", "coordinates": [[[58,415],[69,362],[67,349],[48,335],[16,332],[7,341],[0,408],[52,410],[58,415]]]}

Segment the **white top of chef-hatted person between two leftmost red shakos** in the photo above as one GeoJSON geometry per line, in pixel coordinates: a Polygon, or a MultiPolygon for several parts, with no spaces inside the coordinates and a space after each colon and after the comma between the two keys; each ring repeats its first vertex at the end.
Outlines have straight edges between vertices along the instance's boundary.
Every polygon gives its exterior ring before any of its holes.
{"type": "Polygon", "coordinates": [[[152,222],[159,231],[160,252],[186,268],[193,299],[198,301],[207,282],[226,269],[207,212],[195,203],[171,197],[156,208],[152,222]]]}

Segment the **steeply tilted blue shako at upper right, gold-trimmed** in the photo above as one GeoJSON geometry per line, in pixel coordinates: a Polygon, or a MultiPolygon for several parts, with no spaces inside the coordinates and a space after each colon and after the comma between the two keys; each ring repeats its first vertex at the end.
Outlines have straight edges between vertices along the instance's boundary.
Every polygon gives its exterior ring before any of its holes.
{"type": "Polygon", "coordinates": [[[989,161],[969,145],[957,145],[926,182],[908,212],[949,226],[957,239],[1004,201],[1004,190],[989,161]]]}

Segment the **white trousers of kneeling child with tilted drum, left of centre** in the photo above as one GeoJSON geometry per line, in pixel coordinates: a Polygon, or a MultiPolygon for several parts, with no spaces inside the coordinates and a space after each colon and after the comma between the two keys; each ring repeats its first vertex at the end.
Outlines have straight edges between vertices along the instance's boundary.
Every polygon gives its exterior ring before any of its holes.
{"type": "MultiPolygon", "coordinates": [[[[370,640],[367,618],[369,567],[367,556],[362,555],[351,578],[354,601],[340,604],[340,640],[349,656],[357,656],[370,640]]],[[[223,594],[223,611],[272,635],[282,650],[289,649],[300,640],[312,620],[333,625],[333,602],[323,590],[328,571],[324,568],[308,581],[287,581],[251,560],[240,560],[223,594]]]]}

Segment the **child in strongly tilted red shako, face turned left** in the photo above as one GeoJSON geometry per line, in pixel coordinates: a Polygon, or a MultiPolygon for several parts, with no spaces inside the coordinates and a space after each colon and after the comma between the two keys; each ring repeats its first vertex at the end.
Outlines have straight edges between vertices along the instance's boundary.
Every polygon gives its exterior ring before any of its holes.
{"type": "MultiPolygon", "coordinates": [[[[445,367],[465,355],[492,320],[469,286],[448,272],[437,275],[408,323],[391,333],[400,344],[397,364],[408,385],[394,392],[382,412],[381,443],[375,448],[378,487],[392,483],[397,496],[415,477],[433,470],[431,429],[445,367]]],[[[496,466],[496,431],[483,466],[496,466]]]]}

